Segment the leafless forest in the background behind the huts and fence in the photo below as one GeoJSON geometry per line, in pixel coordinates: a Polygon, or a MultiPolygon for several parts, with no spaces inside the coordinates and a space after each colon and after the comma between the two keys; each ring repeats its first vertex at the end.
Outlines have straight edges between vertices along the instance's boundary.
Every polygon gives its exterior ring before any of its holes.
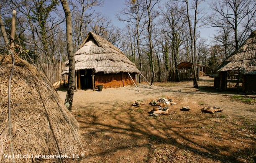
{"type": "MultiPolygon", "coordinates": [[[[74,51],[93,31],[120,48],[141,71],[177,70],[183,61],[215,68],[256,30],[256,1],[216,0],[208,4],[210,14],[202,2],[124,0],[116,17],[126,25],[119,28],[94,10],[107,1],[69,0],[74,51]],[[211,40],[200,37],[198,29],[207,27],[218,28],[211,40]]],[[[12,10],[17,11],[15,43],[23,59],[31,62],[30,56],[35,64],[67,61],[65,14],[59,0],[0,0],[9,35],[12,10]]],[[[0,42],[3,48],[2,36],[0,42]]]]}

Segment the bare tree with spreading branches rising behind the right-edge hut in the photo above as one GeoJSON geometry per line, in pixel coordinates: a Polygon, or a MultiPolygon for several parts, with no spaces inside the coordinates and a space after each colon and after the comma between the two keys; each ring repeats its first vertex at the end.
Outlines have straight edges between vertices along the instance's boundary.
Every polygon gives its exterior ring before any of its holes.
{"type": "Polygon", "coordinates": [[[208,23],[213,27],[232,29],[237,49],[251,31],[256,30],[255,0],[216,0],[210,4],[213,10],[208,23]]]}

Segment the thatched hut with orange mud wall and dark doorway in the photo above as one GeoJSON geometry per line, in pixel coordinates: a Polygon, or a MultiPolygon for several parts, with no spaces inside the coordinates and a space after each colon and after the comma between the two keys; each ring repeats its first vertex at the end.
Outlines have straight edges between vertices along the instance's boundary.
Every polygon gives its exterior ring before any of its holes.
{"type": "MultiPolygon", "coordinates": [[[[120,49],[93,32],[88,33],[74,58],[78,89],[132,85],[129,74],[134,80],[140,73],[120,49]]],[[[62,74],[68,74],[68,63],[62,74]]]]}

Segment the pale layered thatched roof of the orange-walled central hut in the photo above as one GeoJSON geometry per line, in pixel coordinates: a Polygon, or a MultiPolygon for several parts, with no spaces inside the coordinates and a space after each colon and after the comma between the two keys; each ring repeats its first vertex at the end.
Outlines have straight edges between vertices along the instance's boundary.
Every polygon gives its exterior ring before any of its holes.
{"type": "MultiPolygon", "coordinates": [[[[140,73],[120,49],[93,32],[88,33],[74,58],[75,70],[93,69],[95,73],[104,74],[140,73]]],[[[61,74],[68,74],[68,63],[65,63],[65,71],[61,74]]]]}

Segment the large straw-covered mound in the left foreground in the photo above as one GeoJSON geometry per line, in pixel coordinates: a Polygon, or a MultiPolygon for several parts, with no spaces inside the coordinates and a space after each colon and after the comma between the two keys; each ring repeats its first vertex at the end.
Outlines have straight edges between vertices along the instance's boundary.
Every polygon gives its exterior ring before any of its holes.
{"type": "MultiPolygon", "coordinates": [[[[1,57],[2,58],[2,57],[1,57]]],[[[8,81],[12,59],[5,56],[0,65],[0,162],[11,162],[8,133],[8,81]]],[[[11,82],[11,123],[14,155],[79,154],[78,122],[67,110],[53,86],[33,66],[15,57],[11,82]]],[[[36,159],[19,158],[16,162],[36,159]]],[[[43,159],[55,162],[58,160],[43,159]]]]}

